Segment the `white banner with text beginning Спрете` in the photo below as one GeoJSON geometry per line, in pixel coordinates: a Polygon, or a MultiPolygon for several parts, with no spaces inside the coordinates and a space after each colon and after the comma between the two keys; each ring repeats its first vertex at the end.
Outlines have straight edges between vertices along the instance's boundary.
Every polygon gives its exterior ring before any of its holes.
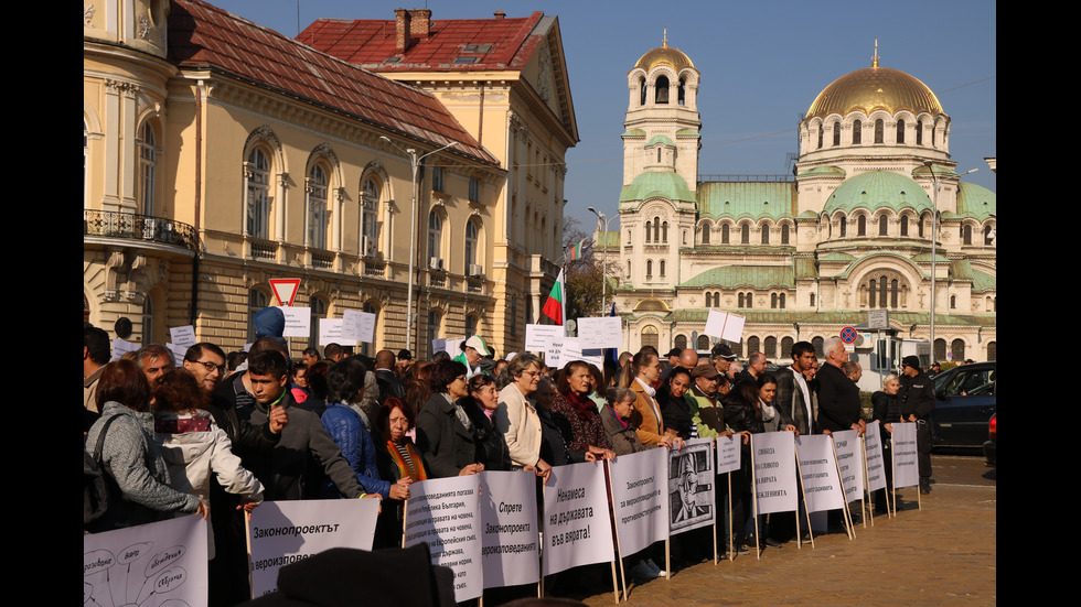
{"type": "Polygon", "coordinates": [[[490,470],[479,477],[484,587],[539,582],[536,474],[490,470]]]}

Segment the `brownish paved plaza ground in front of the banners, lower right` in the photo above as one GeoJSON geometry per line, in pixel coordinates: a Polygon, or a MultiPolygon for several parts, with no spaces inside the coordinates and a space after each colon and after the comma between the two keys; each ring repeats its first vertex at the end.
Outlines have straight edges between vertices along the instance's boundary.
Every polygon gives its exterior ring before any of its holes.
{"type": "MultiPolygon", "coordinates": [[[[898,494],[896,518],[857,525],[855,540],[831,533],[815,536],[814,548],[793,541],[761,560],[697,564],[672,579],[629,586],[623,605],[995,605],[996,470],[974,455],[935,455],[933,466],[922,510],[908,488],[898,494]]],[[[575,598],[616,603],[600,584],[575,598]]]]}

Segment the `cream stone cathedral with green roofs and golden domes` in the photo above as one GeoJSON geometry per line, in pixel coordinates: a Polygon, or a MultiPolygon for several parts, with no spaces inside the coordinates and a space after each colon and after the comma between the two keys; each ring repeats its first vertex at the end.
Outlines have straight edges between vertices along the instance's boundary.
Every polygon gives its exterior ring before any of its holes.
{"type": "Polygon", "coordinates": [[[954,171],[930,88],[876,57],[811,104],[794,176],[713,180],[699,78],[666,41],[628,73],[616,301],[629,349],[706,350],[710,308],[746,316],[737,353],[782,361],[874,310],[895,336],[928,339],[933,271],[932,356],[995,359],[996,197],[954,171]]]}

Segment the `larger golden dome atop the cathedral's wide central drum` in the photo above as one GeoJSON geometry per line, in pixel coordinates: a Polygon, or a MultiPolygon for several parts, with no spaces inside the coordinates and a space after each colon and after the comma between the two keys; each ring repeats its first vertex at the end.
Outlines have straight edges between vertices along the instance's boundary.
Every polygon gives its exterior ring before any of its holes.
{"type": "Polygon", "coordinates": [[[846,116],[853,110],[870,113],[884,109],[897,113],[907,109],[912,113],[931,116],[945,113],[934,93],[919,78],[900,69],[874,67],[857,69],[842,76],[824,88],[811,104],[806,118],[826,117],[831,113],[846,116]]]}

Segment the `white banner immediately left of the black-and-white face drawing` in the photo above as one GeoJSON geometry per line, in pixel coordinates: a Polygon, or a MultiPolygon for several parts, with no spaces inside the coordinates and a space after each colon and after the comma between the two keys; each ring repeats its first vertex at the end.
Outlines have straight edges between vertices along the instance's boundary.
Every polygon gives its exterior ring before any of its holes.
{"type": "Polygon", "coordinates": [[[621,455],[608,463],[621,557],[668,536],[667,495],[661,490],[667,463],[663,448],[621,455]]]}

